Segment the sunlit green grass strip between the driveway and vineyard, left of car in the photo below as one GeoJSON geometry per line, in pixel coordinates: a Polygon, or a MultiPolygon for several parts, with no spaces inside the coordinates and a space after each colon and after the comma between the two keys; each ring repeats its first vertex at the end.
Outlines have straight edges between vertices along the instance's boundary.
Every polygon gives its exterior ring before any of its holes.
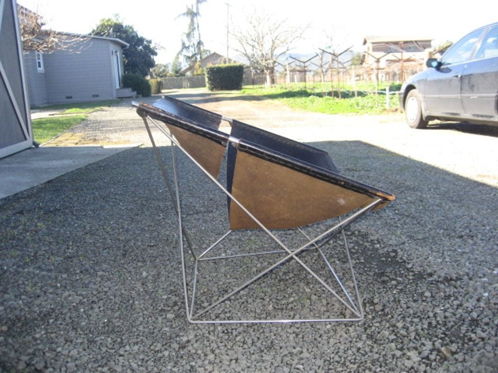
{"type": "MultiPolygon", "coordinates": [[[[387,85],[379,86],[379,91],[385,91],[387,85]]],[[[399,90],[399,85],[391,85],[390,92],[399,90]]],[[[253,87],[244,88],[241,93],[260,96],[261,98],[277,99],[289,107],[321,112],[328,114],[380,114],[386,111],[385,94],[368,93],[373,91],[374,86],[363,85],[357,87],[345,87],[341,89],[341,98],[339,91],[330,90],[330,83],[326,84],[307,84],[304,88],[303,84],[275,86],[271,88],[253,87]]],[[[399,109],[399,103],[395,94],[390,95],[389,111],[399,109]]]]}

